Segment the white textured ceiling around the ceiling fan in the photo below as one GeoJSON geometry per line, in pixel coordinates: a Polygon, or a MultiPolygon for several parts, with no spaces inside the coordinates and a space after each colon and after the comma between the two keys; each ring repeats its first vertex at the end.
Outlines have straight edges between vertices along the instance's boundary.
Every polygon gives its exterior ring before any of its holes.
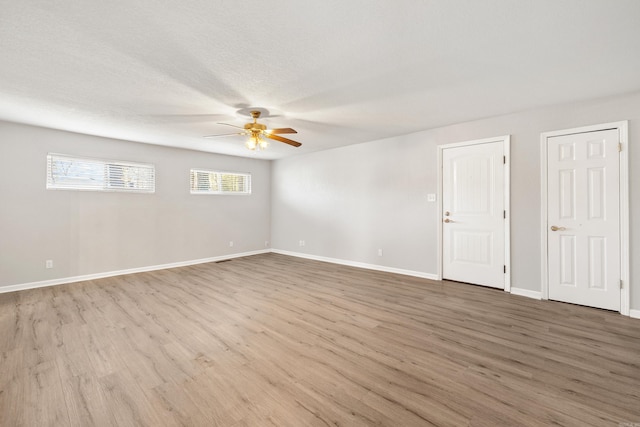
{"type": "MultiPolygon", "coordinates": [[[[0,119],[265,159],[640,90],[638,0],[0,0],[0,119]]],[[[6,143],[2,141],[0,143],[6,143]]]]}

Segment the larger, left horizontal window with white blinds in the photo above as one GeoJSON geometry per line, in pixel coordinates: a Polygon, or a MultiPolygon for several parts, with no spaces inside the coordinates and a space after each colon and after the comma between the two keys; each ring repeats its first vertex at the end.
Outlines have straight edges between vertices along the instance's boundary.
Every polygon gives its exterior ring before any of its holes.
{"type": "Polygon", "coordinates": [[[64,154],[47,155],[47,189],[153,193],[155,166],[64,154]]]}

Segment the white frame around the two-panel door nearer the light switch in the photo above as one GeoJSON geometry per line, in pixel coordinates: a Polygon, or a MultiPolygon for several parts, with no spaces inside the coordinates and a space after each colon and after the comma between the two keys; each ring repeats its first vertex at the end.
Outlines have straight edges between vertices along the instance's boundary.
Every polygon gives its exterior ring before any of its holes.
{"type": "Polygon", "coordinates": [[[511,292],[511,237],[510,237],[510,217],[511,209],[509,205],[510,200],[510,176],[511,176],[511,159],[510,159],[510,144],[511,135],[498,136],[495,138],[476,139],[472,141],[456,142],[453,144],[438,145],[438,280],[442,280],[442,245],[443,245],[443,228],[442,228],[442,154],[443,150],[447,148],[466,147],[471,145],[487,144],[490,142],[502,142],[504,150],[505,163],[504,163],[504,209],[506,211],[506,218],[504,220],[504,264],[506,266],[506,272],[504,274],[504,290],[505,292],[511,292]]]}

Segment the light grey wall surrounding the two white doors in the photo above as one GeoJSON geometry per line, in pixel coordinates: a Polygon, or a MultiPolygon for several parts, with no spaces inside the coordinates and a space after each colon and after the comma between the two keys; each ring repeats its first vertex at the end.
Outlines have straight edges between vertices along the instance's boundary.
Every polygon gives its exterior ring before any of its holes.
{"type": "MultiPolygon", "coordinates": [[[[490,99],[487,100],[490,102],[490,99]]],[[[510,134],[512,286],[541,291],[540,134],[629,120],[631,308],[640,308],[640,93],[554,106],[275,161],[275,249],[437,273],[437,145],[510,134]],[[635,197],[634,197],[635,196],[635,197]],[[305,240],[300,247],[299,241],[305,240]],[[383,257],[377,249],[383,249],[383,257]]]]}

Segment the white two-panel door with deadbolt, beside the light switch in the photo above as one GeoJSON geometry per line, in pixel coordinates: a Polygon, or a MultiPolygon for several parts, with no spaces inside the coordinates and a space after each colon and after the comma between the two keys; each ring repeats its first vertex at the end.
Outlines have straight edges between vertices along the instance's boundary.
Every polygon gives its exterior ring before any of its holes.
{"type": "Polygon", "coordinates": [[[505,288],[504,142],[442,150],[442,278],[505,288]]]}

